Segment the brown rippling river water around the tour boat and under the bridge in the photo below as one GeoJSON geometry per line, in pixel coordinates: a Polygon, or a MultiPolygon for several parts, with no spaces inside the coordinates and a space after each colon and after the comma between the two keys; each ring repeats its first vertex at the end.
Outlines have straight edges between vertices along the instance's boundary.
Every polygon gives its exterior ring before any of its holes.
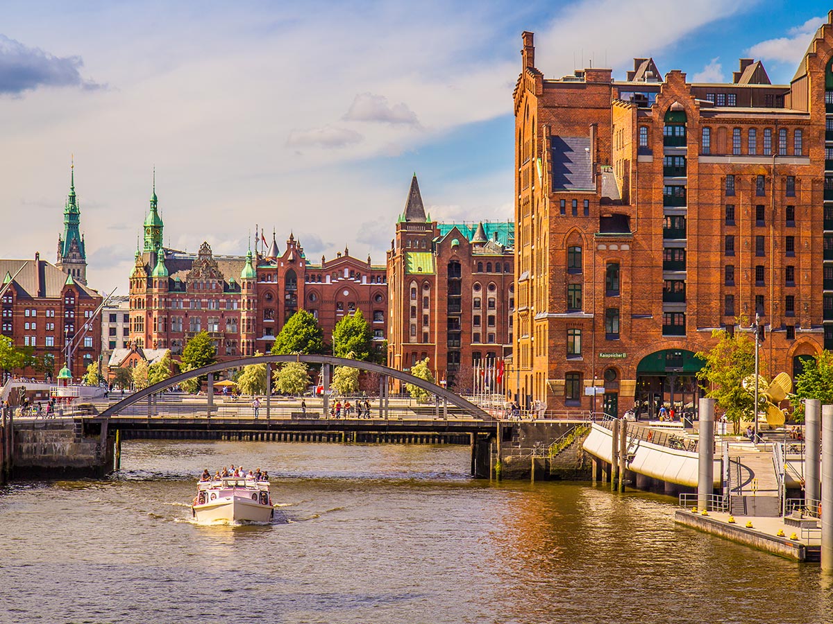
{"type": "Polygon", "coordinates": [[[469,478],[468,448],[130,441],[106,481],[0,490],[0,622],[831,622],[817,564],[671,499],[469,478]],[[206,527],[202,468],[265,468],[269,526],[206,527]]]}

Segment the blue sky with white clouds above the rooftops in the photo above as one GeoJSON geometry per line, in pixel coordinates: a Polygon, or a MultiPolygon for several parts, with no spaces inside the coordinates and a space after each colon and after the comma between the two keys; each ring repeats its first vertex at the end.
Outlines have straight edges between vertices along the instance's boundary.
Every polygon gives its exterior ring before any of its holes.
{"type": "Polygon", "coordinates": [[[127,294],[156,192],[164,242],[384,264],[413,173],[438,220],[510,220],[521,32],[545,77],[633,57],[690,82],[738,58],[787,83],[816,0],[38,2],[0,17],[0,257],[54,262],[74,157],[87,280],[127,294]]]}

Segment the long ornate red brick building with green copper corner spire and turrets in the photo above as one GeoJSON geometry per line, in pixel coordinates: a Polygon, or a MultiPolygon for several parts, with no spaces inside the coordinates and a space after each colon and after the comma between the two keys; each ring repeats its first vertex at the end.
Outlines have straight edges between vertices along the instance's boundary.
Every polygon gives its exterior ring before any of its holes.
{"type": "Polygon", "coordinates": [[[374,338],[385,339],[385,267],[370,257],[353,258],[345,248],[315,264],[293,235],[282,252],[274,235],[267,250],[245,256],[214,255],[207,243],[197,254],[168,249],[155,190],[144,227],[144,249],[137,250],[130,277],[130,340],[139,347],[182,354],[187,339],[205,330],[219,359],[267,353],[301,309],[318,319],[326,341],[338,320],[356,310],[374,338]]]}

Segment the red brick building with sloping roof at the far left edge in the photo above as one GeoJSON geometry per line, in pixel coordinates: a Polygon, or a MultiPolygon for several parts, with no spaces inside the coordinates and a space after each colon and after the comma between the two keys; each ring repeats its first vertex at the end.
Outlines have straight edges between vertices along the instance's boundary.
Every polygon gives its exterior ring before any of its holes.
{"type": "MultiPolygon", "coordinates": [[[[2,335],[44,359],[51,379],[67,361],[67,345],[72,344],[70,369],[73,379],[80,379],[101,353],[101,317],[94,312],[102,297],[39,254],[34,260],[0,260],[0,275],[2,335]]],[[[38,378],[43,374],[34,369],[15,372],[38,378]]]]}

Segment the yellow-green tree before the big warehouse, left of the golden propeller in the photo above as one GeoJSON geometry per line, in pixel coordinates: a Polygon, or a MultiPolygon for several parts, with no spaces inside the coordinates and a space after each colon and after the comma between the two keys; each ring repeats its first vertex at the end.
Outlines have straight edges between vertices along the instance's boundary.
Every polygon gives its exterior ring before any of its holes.
{"type": "Polygon", "coordinates": [[[697,379],[709,384],[706,396],[717,400],[737,435],[741,420],[751,420],[754,412],[755,397],[741,383],[749,376],[755,378],[755,342],[743,334],[729,335],[725,329],[715,329],[711,336],[719,341],[710,351],[696,354],[706,361],[697,379]]]}

